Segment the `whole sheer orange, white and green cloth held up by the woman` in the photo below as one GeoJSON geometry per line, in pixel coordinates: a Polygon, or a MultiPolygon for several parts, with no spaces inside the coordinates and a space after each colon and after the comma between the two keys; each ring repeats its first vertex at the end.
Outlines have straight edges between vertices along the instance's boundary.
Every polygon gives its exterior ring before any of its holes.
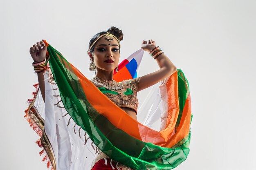
{"type": "Polygon", "coordinates": [[[47,50],[45,102],[37,89],[26,117],[38,131],[48,168],[90,170],[99,150],[134,170],[169,170],[186,159],[192,114],[180,69],[153,87],[136,121],[51,45],[47,50]]]}

